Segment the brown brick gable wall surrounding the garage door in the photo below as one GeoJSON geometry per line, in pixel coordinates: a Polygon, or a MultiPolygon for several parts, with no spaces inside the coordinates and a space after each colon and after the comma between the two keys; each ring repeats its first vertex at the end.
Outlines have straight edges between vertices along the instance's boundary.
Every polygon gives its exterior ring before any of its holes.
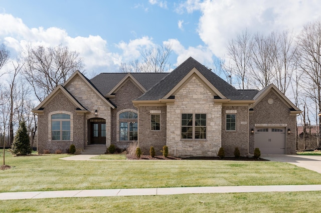
{"type": "MultiPolygon", "coordinates": [[[[290,115],[290,109],[282,100],[270,91],[255,107],[249,115],[249,129],[255,130],[255,124],[286,124],[286,129],[290,128],[291,133],[286,133],[286,154],[295,154],[296,141],[296,115],[290,115]],[[274,100],[273,104],[268,103],[268,99],[274,100]],[[262,122],[264,121],[264,122],[262,122]]],[[[276,126],[277,127],[277,126],[276,126]]],[[[249,152],[253,154],[255,134],[249,137],[249,152]]]]}

